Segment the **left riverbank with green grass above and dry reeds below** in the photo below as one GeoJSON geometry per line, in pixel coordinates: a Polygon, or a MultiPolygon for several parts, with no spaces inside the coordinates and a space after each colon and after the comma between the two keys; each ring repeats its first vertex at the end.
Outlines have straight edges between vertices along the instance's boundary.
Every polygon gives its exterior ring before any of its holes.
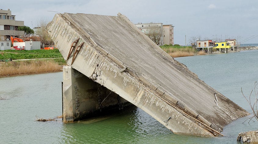
{"type": "Polygon", "coordinates": [[[0,51],[0,77],[62,71],[66,61],[58,49],[0,51]]]}

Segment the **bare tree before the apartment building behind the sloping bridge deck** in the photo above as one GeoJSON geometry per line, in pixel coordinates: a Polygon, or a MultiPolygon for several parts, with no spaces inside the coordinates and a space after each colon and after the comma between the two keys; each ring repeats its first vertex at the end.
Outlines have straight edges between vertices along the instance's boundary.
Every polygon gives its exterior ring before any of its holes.
{"type": "Polygon", "coordinates": [[[163,44],[163,28],[159,26],[148,27],[144,32],[157,45],[163,44]]]}

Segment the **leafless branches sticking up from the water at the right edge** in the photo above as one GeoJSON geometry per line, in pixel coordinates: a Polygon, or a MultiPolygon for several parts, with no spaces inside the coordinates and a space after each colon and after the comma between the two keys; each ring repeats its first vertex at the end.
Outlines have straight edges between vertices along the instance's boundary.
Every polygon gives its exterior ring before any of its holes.
{"type": "MultiPolygon", "coordinates": [[[[251,91],[250,95],[249,95],[249,99],[247,99],[247,97],[244,95],[243,91],[242,91],[242,88],[241,88],[241,92],[242,92],[242,95],[244,96],[245,100],[248,102],[250,108],[252,109],[253,111],[253,116],[252,117],[249,117],[247,118],[247,120],[250,121],[253,121],[252,119],[255,118],[256,121],[258,121],[258,109],[257,109],[257,102],[258,102],[258,87],[257,87],[258,83],[257,81],[254,83],[254,89],[251,91]],[[252,93],[254,93],[254,96],[252,97],[252,93]],[[252,104],[251,101],[254,100],[254,103],[252,104]]],[[[245,120],[245,121],[247,121],[245,120]]],[[[244,121],[244,122],[245,122],[244,121]]],[[[244,123],[243,122],[243,123],[244,123]]],[[[249,123],[248,122],[248,123],[249,123]]]]}

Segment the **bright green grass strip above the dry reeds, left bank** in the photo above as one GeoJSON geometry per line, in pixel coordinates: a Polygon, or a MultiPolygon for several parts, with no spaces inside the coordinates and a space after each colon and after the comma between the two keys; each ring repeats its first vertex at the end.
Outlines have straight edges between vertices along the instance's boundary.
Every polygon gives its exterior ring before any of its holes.
{"type": "Polygon", "coordinates": [[[63,57],[58,49],[45,50],[3,50],[0,51],[0,59],[44,59],[63,57]]]}

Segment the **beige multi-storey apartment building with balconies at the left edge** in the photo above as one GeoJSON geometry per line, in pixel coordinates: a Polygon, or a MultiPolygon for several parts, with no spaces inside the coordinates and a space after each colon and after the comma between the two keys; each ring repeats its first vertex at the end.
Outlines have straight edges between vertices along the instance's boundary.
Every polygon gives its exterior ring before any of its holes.
{"type": "Polygon", "coordinates": [[[0,41],[10,40],[10,36],[24,36],[24,31],[18,31],[19,26],[24,26],[24,21],[16,21],[9,9],[0,9],[0,41]]]}

